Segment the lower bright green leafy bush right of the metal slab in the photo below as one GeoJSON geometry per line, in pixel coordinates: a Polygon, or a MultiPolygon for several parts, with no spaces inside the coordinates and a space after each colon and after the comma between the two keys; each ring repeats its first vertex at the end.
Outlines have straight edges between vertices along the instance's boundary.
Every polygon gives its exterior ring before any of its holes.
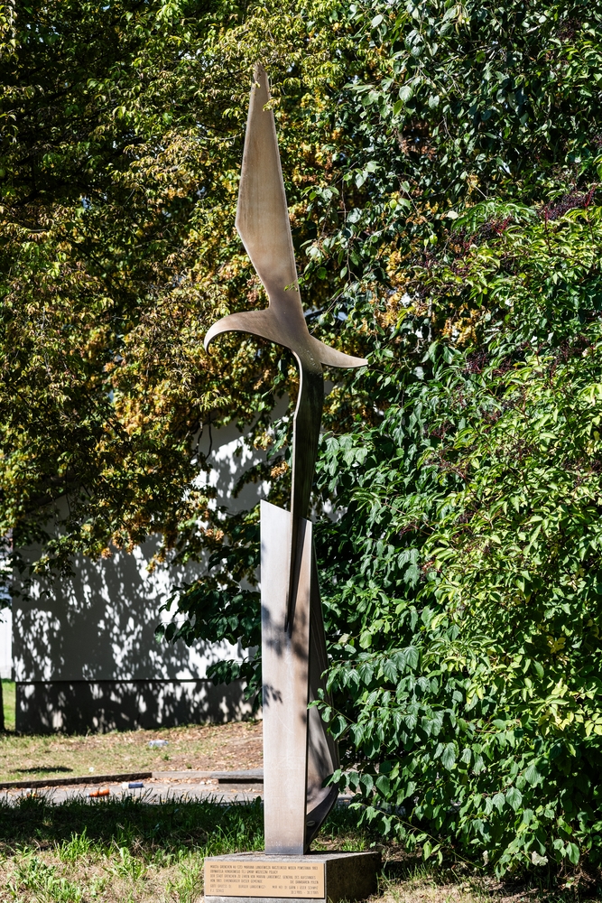
{"type": "Polygon", "coordinates": [[[428,376],[402,379],[369,437],[326,439],[321,463],[347,503],[322,552],[346,700],[327,714],[364,773],[347,779],[367,817],[499,870],[597,861],[600,844],[602,299],[558,279],[569,259],[596,287],[586,217],[599,243],[597,210],[508,228],[493,254],[528,252],[536,288],[516,328],[477,351],[433,342],[428,376]],[[557,344],[537,335],[551,322],[557,344]]]}

